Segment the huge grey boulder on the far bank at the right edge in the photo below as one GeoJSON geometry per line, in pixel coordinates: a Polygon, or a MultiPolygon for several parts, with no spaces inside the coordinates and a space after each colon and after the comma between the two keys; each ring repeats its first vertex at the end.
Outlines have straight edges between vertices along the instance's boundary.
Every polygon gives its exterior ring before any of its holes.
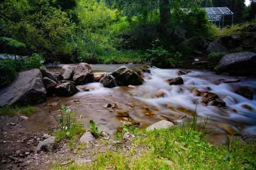
{"type": "Polygon", "coordinates": [[[256,75],[256,53],[241,52],[226,54],[215,67],[217,73],[256,75]]]}

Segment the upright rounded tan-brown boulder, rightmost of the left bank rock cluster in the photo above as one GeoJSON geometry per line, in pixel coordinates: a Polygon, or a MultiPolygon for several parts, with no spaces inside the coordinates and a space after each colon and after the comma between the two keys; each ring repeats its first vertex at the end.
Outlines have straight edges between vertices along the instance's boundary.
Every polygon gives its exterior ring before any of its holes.
{"type": "Polygon", "coordinates": [[[76,82],[77,85],[93,82],[93,71],[89,64],[81,62],[76,66],[73,82],[76,82]]]}

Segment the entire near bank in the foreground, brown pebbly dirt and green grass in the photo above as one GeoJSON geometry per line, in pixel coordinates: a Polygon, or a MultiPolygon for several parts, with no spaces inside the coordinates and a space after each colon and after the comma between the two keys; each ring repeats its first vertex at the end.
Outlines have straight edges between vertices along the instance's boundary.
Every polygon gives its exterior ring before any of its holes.
{"type": "MultiPolygon", "coordinates": [[[[195,118],[193,120],[196,121],[195,118]]],[[[169,122],[170,126],[155,130],[140,130],[128,125],[116,135],[105,134],[96,139],[91,136],[85,138],[85,142],[80,139],[83,133],[77,133],[72,139],[63,138],[59,136],[62,130],[59,132],[57,128],[56,133],[53,133],[57,136],[53,149],[48,152],[35,150],[40,142],[50,136],[34,131],[25,132],[23,123],[26,121],[19,120],[17,116],[1,116],[1,140],[6,140],[0,151],[1,169],[256,168],[255,141],[246,143],[237,137],[227,137],[215,146],[206,140],[209,133],[199,129],[193,121],[180,128],[172,127],[169,122]],[[11,125],[11,122],[15,125],[11,125]]],[[[84,132],[92,131],[90,125],[84,127],[84,132]]],[[[155,124],[154,127],[158,128],[155,124]]]]}

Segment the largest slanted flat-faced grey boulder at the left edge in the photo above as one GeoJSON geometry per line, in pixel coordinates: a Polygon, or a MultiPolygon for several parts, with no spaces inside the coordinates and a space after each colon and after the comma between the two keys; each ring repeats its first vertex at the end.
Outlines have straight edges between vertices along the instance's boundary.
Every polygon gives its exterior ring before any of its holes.
{"type": "Polygon", "coordinates": [[[0,107],[44,102],[46,90],[39,69],[23,71],[11,85],[0,89],[0,107]]]}

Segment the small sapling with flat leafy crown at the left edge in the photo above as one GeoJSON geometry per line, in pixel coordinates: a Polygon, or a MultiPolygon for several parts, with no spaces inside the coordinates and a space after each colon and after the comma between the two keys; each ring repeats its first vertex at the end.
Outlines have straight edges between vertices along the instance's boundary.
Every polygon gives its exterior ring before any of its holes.
{"type": "Polygon", "coordinates": [[[7,46],[7,48],[11,48],[11,52],[12,54],[14,54],[15,56],[15,60],[16,60],[16,53],[17,53],[17,49],[19,48],[25,48],[26,45],[23,44],[22,42],[19,42],[13,38],[7,38],[7,37],[0,37],[1,42],[7,46]]]}

